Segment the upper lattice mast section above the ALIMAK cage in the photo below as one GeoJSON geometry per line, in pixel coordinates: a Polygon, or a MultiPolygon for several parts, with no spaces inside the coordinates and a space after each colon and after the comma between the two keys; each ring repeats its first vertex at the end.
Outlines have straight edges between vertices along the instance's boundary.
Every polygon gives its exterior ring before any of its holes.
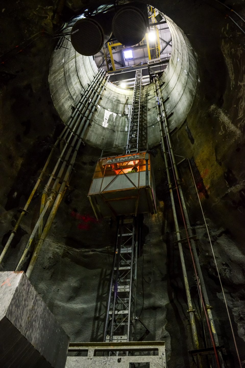
{"type": "Polygon", "coordinates": [[[128,129],[127,153],[138,152],[140,149],[139,129],[140,129],[141,91],[142,91],[142,70],[136,70],[132,109],[128,129]]]}

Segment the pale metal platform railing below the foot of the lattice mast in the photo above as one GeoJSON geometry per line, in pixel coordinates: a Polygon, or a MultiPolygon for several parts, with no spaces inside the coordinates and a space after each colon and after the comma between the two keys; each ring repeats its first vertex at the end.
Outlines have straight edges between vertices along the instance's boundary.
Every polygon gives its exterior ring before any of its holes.
{"type": "Polygon", "coordinates": [[[74,343],[65,368],[166,368],[163,341],[129,343],[74,343]]]}

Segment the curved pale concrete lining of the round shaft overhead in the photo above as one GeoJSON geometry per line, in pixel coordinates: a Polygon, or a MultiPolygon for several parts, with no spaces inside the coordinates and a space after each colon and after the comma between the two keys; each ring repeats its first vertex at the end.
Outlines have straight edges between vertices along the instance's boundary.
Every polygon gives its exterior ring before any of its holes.
{"type": "MultiPolygon", "coordinates": [[[[193,102],[197,83],[197,66],[192,47],[183,32],[166,17],[172,35],[172,56],[164,71],[160,85],[173,130],[183,124],[193,102]]],[[[97,66],[92,56],[78,54],[71,43],[53,53],[50,65],[50,91],[57,112],[66,123],[71,109],[81,92],[94,78],[97,66]]],[[[85,141],[99,148],[127,143],[129,117],[132,104],[131,89],[122,89],[108,82],[100,100],[85,141]]],[[[153,84],[143,89],[147,115],[147,134],[150,146],[160,142],[153,84]]]]}

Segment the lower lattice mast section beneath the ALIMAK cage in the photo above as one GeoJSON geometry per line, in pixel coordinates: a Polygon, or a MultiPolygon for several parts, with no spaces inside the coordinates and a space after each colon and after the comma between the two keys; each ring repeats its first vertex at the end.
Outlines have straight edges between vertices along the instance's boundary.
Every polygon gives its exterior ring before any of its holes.
{"type": "Polygon", "coordinates": [[[138,247],[135,229],[134,216],[119,217],[104,342],[128,342],[134,339],[138,247]]]}

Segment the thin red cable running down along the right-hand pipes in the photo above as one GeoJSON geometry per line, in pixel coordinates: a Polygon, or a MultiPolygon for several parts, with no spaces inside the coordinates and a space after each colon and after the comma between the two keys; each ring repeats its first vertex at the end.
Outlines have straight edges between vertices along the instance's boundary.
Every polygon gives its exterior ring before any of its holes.
{"type": "MultiPolygon", "coordinates": [[[[158,96],[160,97],[160,92],[159,92],[159,88],[158,88],[158,82],[157,82],[157,90],[158,90],[158,96]]],[[[160,108],[161,108],[162,117],[164,118],[164,114],[163,114],[163,111],[162,111],[161,104],[160,104],[160,108]]],[[[206,311],[206,308],[205,308],[205,303],[204,303],[203,296],[202,296],[201,285],[200,285],[199,278],[198,278],[198,275],[197,275],[197,269],[196,269],[194,258],[193,258],[193,252],[191,250],[191,244],[190,244],[189,234],[188,234],[188,231],[187,231],[186,220],[184,218],[183,208],[182,208],[182,204],[181,204],[181,201],[180,201],[179,188],[178,188],[178,185],[177,185],[177,182],[176,182],[176,177],[175,177],[175,171],[174,171],[174,168],[173,168],[172,157],[170,155],[170,148],[169,148],[169,142],[168,142],[168,138],[167,138],[167,131],[166,131],[165,124],[164,124],[164,129],[165,129],[165,135],[166,135],[166,140],[167,140],[167,145],[168,145],[169,157],[170,157],[171,166],[172,166],[172,170],[173,170],[173,178],[174,178],[174,181],[175,181],[175,187],[176,187],[176,191],[177,191],[177,195],[178,195],[178,199],[179,199],[180,211],[181,211],[181,215],[182,215],[182,219],[183,219],[183,223],[184,223],[184,229],[185,229],[185,232],[186,232],[186,238],[187,238],[187,241],[188,241],[188,245],[189,245],[189,249],[190,249],[190,254],[191,254],[191,258],[192,258],[192,262],[193,262],[194,272],[195,272],[195,276],[196,276],[196,279],[197,279],[197,285],[198,285],[198,288],[200,290],[201,301],[202,301],[202,305],[203,305],[204,312],[205,312],[206,322],[207,322],[207,325],[208,325],[209,335],[210,335],[210,338],[211,338],[211,341],[212,341],[212,345],[213,345],[213,350],[214,350],[214,353],[215,353],[215,358],[216,358],[217,366],[219,368],[221,368],[220,367],[219,357],[218,357],[218,354],[217,354],[217,349],[216,349],[215,341],[214,341],[212,330],[211,330],[211,326],[210,326],[210,322],[209,322],[207,311],[206,311]]]]}

